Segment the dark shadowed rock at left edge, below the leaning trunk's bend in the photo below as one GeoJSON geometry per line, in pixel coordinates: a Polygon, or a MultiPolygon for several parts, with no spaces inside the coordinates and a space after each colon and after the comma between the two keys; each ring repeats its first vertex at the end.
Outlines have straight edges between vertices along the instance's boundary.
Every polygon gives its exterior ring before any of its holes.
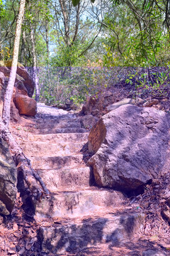
{"type": "Polygon", "coordinates": [[[7,144],[0,139],[0,213],[8,215],[16,200],[16,166],[7,144]]]}

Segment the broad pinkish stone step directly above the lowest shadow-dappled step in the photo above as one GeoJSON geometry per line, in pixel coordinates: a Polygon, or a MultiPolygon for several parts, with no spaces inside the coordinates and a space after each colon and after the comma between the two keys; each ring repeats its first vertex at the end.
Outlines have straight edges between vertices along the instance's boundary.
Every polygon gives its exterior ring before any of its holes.
{"type": "Polygon", "coordinates": [[[58,192],[38,202],[35,206],[35,215],[38,218],[76,218],[80,215],[111,212],[115,206],[121,206],[123,203],[123,193],[108,189],[91,188],[75,192],[58,192]]]}

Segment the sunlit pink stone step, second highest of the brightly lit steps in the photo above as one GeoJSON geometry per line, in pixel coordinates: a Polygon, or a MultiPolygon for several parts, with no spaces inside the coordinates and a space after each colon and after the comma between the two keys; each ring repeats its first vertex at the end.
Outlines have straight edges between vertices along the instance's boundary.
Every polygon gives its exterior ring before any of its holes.
{"type": "Polygon", "coordinates": [[[68,156],[79,154],[85,143],[57,142],[54,144],[49,142],[21,141],[19,144],[27,156],[68,156]]]}

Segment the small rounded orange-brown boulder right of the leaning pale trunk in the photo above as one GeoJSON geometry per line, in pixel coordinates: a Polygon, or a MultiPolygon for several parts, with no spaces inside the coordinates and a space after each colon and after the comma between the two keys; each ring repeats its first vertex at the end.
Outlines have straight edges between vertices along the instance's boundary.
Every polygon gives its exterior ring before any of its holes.
{"type": "Polygon", "coordinates": [[[14,102],[19,114],[26,114],[27,116],[34,117],[37,113],[37,102],[26,95],[16,95],[14,102]]]}

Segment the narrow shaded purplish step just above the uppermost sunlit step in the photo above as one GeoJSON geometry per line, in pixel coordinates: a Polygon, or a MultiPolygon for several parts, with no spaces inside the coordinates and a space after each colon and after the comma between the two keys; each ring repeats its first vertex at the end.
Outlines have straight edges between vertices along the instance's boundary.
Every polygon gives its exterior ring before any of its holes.
{"type": "Polygon", "coordinates": [[[84,133],[84,128],[49,128],[49,129],[35,129],[35,134],[57,134],[57,133],[84,133]]]}

